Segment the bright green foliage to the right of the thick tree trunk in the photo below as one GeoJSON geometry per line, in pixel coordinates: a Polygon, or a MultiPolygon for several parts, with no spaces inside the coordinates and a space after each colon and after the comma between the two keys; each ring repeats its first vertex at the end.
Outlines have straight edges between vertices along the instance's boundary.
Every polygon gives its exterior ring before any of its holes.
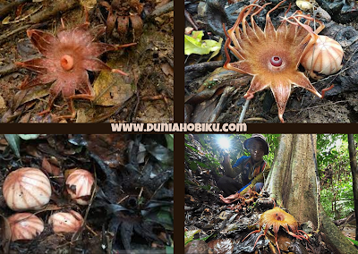
{"type": "MultiPolygon", "coordinates": [[[[354,135],[355,146],[358,135],[354,135]]],[[[346,134],[317,135],[320,202],[328,216],[340,219],[354,211],[353,180],[346,134]]]]}

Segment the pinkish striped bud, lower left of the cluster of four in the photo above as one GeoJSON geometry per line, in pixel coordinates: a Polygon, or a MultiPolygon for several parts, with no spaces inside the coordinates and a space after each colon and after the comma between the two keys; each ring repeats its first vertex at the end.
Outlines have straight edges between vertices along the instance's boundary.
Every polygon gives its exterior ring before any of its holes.
{"type": "Polygon", "coordinates": [[[38,216],[18,213],[7,218],[12,231],[12,241],[31,240],[44,230],[44,223],[38,216]]]}

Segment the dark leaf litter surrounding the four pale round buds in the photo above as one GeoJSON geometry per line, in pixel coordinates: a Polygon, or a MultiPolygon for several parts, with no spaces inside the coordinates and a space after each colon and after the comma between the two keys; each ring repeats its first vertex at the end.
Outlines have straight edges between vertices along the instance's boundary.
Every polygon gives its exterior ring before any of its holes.
{"type": "Polygon", "coordinates": [[[33,240],[10,241],[6,222],[15,212],[0,193],[0,253],[173,253],[172,136],[40,135],[22,140],[10,135],[0,137],[0,150],[1,186],[21,167],[40,169],[52,186],[46,207],[25,211],[36,212],[45,223],[33,240]],[[78,205],[68,195],[65,179],[74,168],[94,175],[89,205],[78,205]],[[48,217],[70,209],[85,224],[76,233],[54,233],[48,217]]]}

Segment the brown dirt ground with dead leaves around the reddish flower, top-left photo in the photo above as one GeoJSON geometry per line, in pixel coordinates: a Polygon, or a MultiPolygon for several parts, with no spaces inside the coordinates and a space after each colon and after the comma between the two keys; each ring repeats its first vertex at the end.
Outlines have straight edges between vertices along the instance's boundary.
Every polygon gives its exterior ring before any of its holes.
{"type": "MultiPolygon", "coordinates": [[[[97,39],[109,44],[137,45],[107,52],[99,58],[112,68],[129,73],[89,72],[96,92],[93,101],[75,99],[76,117],[63,120],[69,114],[61,95],[55,99],[50,114],[38,115],[47,108],[48,85],[20,90],[26,76],[34,72],[18,68],[14,62],[42,57],[26,36],[26,30],[38,29],[56,34],[72,29],[85,19],[88,6],[90,30],[107,25],[107,9],[101,1],[7,1],[0,6],[0,116],[3,123],[98,123],[98,122],[173,122],[174,118],[174,11],[173,2],[141,1],[143,22],[141,36],[133,36],[129,23],[125,37],[116,29],[97,39]],[[97,4],[96,4],[97,2],[97,4]],[[92,3],[92,5],[90,5],[92,3]],[[93,5],[94,3],[94,5],[93,5]],[[9,9],[11,5],[11,9],[9,9]],[[90,8],[89,8],[90,6],[90,8]],[[7,8],[7,9],[6,9],[7,8]]],[[[103,1],[102,1],[103,2],[103,1]]],[[[115,1],[107,1],[111,4],[115,1]]],[[[130,1],[128,1],[129,3],[130,1]]],[[[136,1],[133,1],[136,2],[136,1]]],[[[114,11],[115,13],[115,11],[114,11]]],[[[124,13],[116,13],[118,16],[124,13]]],[[[130,15],[129,13],[126,13],[130,15]]],[[[117,23],[115,23],[115,26],[117,23]]]]}

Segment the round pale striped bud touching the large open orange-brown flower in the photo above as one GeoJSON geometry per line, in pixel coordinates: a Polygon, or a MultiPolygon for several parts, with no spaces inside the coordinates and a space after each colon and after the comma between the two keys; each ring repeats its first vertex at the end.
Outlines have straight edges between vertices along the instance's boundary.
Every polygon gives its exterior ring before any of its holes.
{"type": "Polygon", "coordinates": [[[319,80],[319,74],[330,75],[342,68],[343,53],[343,48],[336,40],[320,35],[316,42],[306,49],[301,64],[304,69],[310,71],[312,79],[319,80]]]}

